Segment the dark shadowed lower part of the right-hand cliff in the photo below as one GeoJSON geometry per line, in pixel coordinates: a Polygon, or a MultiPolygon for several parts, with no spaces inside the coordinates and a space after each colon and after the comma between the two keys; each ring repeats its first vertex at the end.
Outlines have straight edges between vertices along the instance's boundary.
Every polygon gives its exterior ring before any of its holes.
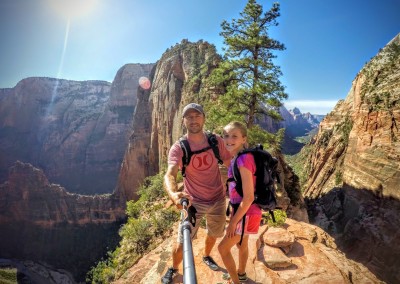
{"type": "Polygon", "coordinates": [[[399,282],[399,200],[345,185],[309,202],[310,221],[334,236],[348,258],[386,283],[399,282]]]}

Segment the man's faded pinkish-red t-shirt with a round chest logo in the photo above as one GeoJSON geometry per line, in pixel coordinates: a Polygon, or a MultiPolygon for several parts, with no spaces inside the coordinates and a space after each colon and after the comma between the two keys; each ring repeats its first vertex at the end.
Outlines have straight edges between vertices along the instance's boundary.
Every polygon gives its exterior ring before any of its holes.
{"type": "MultiPolygon", "coordinates": [[[[204,134],[205,135],[205,134],[204,134]]],[[[218,148],[222,160],[229,159],[231,155],[225,148],[224,141],[217,135],[218,148]]],[[[189,140],[188,140],[189,141],[189,140]]],[[[198,151],[209,146],[207,139],[202,144],[190,143],[192,151],[198,151]]],[[[183,151],[179,141],[175,142],[168,154],[169,165],[179,165],[182,168],[183,151]]],[[[186,177],[183,179],[184,191],[193,197],[193,201],[202,204],[212,204],[225,198],[224,185],[221,181],[218,160],[212,149],[194,154],[185,169],[186,177]]]]}

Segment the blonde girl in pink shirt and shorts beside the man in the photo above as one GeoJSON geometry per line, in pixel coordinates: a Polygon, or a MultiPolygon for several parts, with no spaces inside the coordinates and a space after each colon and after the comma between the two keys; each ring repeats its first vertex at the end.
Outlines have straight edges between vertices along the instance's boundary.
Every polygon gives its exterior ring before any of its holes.
{"type": "Polygon", "coordinates": [[[237,163],[242,179],[243,197],[237,193],[234,181],[229,182],[229,199],[231,210],[230,221],[226,228],[225,236],[218,245],[222,261],[228,273],[223,275],[228,283],[240,283],[247,280],[246,263],[249,256],[248,240],[250,234],[257,234],[261,221],[261,209],[253,204],[255,191],[256,165],[251,153],[237,154],[247,144],[247,129],[240,122],[231,122],[224,127],[223,139],[225,147],[233,156],[228,169],[228,179],[233,177],[233,166],[237,163]],[[244,218],[244,226],[243,226],[244,218]],[[243,238],[243,239],[242,239],[243,238]],[[236,245],[239,249],[239,264],[233,259],[231,249],[236,245]]]}

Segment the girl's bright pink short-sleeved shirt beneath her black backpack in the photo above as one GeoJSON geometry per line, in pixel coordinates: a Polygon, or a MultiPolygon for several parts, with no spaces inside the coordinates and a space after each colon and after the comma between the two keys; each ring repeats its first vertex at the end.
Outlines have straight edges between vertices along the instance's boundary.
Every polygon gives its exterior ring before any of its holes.
{"type": "MultiPolygon", "coordinates": [[[[235,159],[232,159],[231,164],[229,165],[228,169],[228,178],[233,177],[233,163],[235,159]]],[[[253,174],[253,183],[254,183],[254,191],[256,185],[256,176],[254,175],[256,172],[256,164],[254,162],[254,157],[252,154],[243,154],[237,158],[237,166],[245,167],[253,174]]],[[[232,181],[229,183],[229,200],[232,204],[238,204],[242,201],[243,197],[239,195],[236,191],[236,183],[232,181]]],[[[257,204],[251,204],[249,210],[247,210],[247,215],[261,215],[261,208],[257,204]]]]}

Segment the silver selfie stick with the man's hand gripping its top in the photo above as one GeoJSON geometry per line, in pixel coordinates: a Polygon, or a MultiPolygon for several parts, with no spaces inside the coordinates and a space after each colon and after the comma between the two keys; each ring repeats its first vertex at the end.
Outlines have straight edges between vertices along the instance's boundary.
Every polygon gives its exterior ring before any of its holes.
{"type": "Polygon", "coordinates": [[[181,228],[183,235],[183,283],[196,284],[196,268],[194,267],[192,240],[190,239],[192,227],[190,226],[189,221],[188,204],[189,200],[187,198],[181,198],[181,205],[183,206],[181,211],[181,228]]]}

